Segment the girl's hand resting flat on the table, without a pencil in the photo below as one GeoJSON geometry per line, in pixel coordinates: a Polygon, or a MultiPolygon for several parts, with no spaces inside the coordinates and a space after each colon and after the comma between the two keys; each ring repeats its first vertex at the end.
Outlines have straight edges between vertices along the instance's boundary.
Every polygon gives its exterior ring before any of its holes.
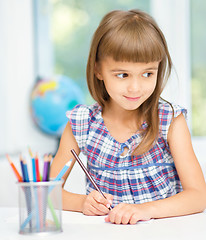
{"type": "Polygon", "coordinates": [[[105,218],[106,222],[115,224],[136,224],[138,221],[148,221],[152,218],[148,204],[120,203],[114,207],[105,218]]]}

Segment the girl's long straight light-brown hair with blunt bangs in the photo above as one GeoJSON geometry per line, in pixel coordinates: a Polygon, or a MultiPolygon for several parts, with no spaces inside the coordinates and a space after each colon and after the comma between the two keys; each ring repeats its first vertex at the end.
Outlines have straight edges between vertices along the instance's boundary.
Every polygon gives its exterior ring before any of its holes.
{"type": "Polygon", "coordinates": [[[87,62],[88,88],[102,108],[109,95],[104,81],[95,76],[95,63],[104,57],[112,57],[115,61],[160,62],[155,90],[138,108],[138,114],[146,120],[148,127],[142,131],[142,141],[134,154],[143,154],[158,136],[158,102],[172,69],[165,37],[155,20],[140,10],[116,10],[104,16],[94,33],[87,62]]]}

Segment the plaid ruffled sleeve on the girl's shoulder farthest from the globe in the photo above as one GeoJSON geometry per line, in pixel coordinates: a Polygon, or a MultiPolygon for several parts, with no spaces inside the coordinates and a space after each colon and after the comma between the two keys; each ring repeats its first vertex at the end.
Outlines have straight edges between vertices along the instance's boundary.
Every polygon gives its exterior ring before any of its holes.
{"type": "Polygon", "coordinates": [[[184,107],[170,103],[159,104],[159,121],[160,121],[160,134],[167,142],[167,135],[169,127],[172,123],[173,118],[178,117],[180,114],[187,119],[187,110],[184,107]]]}

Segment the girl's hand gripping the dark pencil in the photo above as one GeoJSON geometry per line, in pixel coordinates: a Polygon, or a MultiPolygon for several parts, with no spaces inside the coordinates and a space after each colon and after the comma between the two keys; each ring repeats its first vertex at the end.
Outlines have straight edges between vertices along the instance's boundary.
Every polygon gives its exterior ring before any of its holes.
{"type": "Polygon", "coordinates": [[[90,216],[108,214],[113,196],[107,193],[104,193],[104,195],[106,199],[96,190],[87,195],[83,203],[83,214],[90,216]]]}

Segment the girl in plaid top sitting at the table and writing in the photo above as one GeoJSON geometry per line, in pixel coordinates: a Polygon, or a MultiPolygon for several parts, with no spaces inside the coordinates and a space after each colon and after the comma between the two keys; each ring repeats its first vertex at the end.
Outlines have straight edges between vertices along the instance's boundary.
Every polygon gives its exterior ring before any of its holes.
{"type": "Polygon", "coordinates": [[[171,68],[164,35],[151,16],[112,11],[102,19],[87,64],[96,103],[67,113],[51,176],[72,158],[71,149],[81,151],[106,199],[87,181],[87,195],[63,190],[65,210],[135,224],[206,208],[206,184],[186,110],[160,97],[171,68]]]}

